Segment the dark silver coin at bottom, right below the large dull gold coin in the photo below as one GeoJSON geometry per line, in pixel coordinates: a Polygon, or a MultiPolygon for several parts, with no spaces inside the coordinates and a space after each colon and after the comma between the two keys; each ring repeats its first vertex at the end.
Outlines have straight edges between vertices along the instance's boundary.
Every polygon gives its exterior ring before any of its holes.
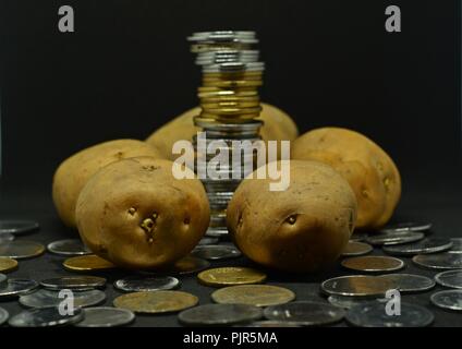
{"type": "Polygon", "coordinates": [[[321,326],[341,321],[345,312],[325,302],[297,301],[268,306],[264,315],[268,320],[289,321],[302,326],[321,326]]]}

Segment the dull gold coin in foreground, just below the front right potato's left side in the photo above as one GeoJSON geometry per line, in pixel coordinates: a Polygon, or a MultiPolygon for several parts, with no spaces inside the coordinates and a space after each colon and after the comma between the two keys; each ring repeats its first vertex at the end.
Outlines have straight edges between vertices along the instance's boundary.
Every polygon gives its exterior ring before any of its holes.
{"type": "Polygon", "coordinates": [[[269,306],[284,304],[295,299],[291,290],[270,285],[240,285],[224,287],[211,293],[216,303],[223,304],[248,304],[256,306],[269,306]]]}

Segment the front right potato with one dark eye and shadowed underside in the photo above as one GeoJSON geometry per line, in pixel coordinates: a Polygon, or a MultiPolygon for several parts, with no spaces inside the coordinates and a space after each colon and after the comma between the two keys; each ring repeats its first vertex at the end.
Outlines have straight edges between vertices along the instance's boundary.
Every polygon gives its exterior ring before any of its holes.
{"type": "Polygon", "coordinates": [[[330,166],[297,160],[290,161],[285,191],[270,191],[270,181],[246,178],[238,186],[227,209],[234,243],[252,261],[281,270],[333,264],[356,219],[348,182],[330,166]]]}

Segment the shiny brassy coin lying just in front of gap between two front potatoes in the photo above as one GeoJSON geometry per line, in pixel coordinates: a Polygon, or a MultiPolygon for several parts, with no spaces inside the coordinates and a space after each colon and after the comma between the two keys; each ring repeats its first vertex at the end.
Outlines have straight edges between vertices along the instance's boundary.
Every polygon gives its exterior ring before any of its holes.
{"type": "Polygon", "coordinates": [[[259,284],[266,279],[266,274],[245,267],[222,267],[202,272],[197,278],[206,286],[222,287],[259,284]]]}

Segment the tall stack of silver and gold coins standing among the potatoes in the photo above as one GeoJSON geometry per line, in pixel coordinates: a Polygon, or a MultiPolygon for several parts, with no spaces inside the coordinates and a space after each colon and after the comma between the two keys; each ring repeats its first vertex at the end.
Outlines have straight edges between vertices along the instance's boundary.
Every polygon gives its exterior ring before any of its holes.
{"type": "Polygon", "coordinates": [[[205,135],[206,141],[199,142],[197,136],[193,139],[198,159],[195,171],[210,202],[207,236],[220,237],[228,233],[228,202],[241,180],[255,169],[257,149],[244,152],[238,148],[241,145],[235,141],[250,141],[246,146],[255,146],[254,142],[260,140],[263,122],[256,120],[262,110],[257,88],[263,84],[265,64],[258,62],[259,52],[253,48],[258,43],[254,32],[200,32],[187,39],[192,43],[191,51],[197,55],[195,62],[203,72],[203,84],[197,94],[202,111],[194,118],[194,123],[203,130],[202,136],[205,135]],[[219,141],[214,142],[216,153],[208,154],[207,146],[212,141],[219,141]],[[223,152],[229,155],[227,165],[215,166],[214,158],[223,152]],[[233,154],[240,154],[239,166],[233,154]],[[217,168],[218,178],[208,173],[208,165],[217,168]]]}

